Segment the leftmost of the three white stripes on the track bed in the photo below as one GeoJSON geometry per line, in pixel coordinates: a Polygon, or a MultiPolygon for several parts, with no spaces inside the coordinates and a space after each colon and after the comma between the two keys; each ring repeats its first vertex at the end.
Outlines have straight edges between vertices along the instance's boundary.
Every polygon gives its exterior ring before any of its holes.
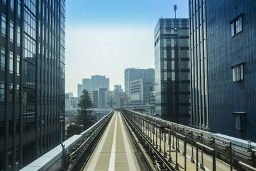
{"type": "Polygon", "coordinates": [[[92,158],[92,161],[91,161],[87,170],[95,170],[96,164],[97,164],[97,162],[99,160],[99,157],[100,157],[100,152],[102,151],[103,145],[105,144],[106,138],[108,136],[109,129],[111,127],[111,124],[113,123],[115,115],[116,114],[114,114],[112,116],[111,121],[108,124],[108,128],[106,129],[106,132],[104,132],[103,137],[102,137],[101,141],[99,142],[99,146],[98,146],[97,150],[95,151],[95,154],[94,154],[94,156],[92,158]]]}

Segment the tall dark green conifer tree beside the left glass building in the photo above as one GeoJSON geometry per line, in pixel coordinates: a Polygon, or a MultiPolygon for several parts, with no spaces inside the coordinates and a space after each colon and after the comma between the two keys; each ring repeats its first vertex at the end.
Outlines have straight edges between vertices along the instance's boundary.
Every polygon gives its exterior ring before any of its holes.
{"type": "Polygon", "coordinates": [[[89,110],[90,108],[93,108],[93,104],[90,94],[86,89],[83,90],[83,93],[79,98],[78,106],[80,109],[77,110],[77,123],[83,124],[84,130],[86,130],[97,121],[92,114],[92,110],[89,110]]]}

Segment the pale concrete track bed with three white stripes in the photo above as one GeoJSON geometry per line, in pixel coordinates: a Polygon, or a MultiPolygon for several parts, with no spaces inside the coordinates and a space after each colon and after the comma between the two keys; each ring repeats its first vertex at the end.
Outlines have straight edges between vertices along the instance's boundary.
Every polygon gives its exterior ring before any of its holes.
{"type": "Polygon", "coordinates": [[[115,111],[83,170],[147,170],[120,112],[115,111]]]}

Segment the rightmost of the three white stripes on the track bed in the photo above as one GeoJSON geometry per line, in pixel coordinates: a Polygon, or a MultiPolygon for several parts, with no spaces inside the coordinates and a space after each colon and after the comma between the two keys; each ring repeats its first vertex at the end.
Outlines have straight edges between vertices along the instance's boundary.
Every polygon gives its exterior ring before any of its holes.
{"type": "Polygon", "coordinates": [[[126,131],[124,129],[124,123],[123,123],[123,119],[121,118],[121,114],[118,114],[118,117],[119,117],[120,123],[121,123],[122,135],[123,135],[123,139],[124,139],[125,153],[126,153],[126,157],[127,157],[127,160],[128,160],[129,170],[137,170],[135,162],[134,162],[134,158],[132,156],[131,147],[129,146],[127,134],[126,134],[126,131]]]}

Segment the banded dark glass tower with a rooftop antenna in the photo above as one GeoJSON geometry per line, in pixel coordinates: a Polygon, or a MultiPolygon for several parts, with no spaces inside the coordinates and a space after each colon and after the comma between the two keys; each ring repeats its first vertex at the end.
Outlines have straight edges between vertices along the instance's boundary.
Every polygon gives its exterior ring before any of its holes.
{"type": "Polygon", "coordinates": [[[155,28],[156,114],[189,122],[189,21],[159,19],[155,28]]]}

